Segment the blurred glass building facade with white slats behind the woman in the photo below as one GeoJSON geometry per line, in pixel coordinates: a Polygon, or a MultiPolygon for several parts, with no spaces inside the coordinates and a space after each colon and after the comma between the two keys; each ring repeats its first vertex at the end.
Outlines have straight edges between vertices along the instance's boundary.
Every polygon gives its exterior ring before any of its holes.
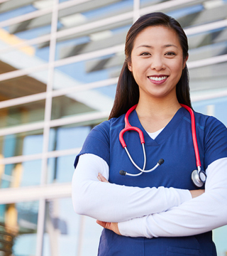
{"type": "Polygon", "coordinates": [[[74,158],[109,116],[128,28],[153,11],[187,33],[194,110],[227,125],[226,0],[0,0],[0,256],[96,255],[101,228],[72,208],[74,158]]]}

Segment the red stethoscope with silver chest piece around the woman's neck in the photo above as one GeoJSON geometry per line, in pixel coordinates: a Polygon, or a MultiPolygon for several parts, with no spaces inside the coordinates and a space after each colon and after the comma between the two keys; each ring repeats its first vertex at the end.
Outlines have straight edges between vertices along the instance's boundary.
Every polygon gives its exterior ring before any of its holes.
{"type": "MultiPolygon", "coordinates": [[[[191,177],[192,177],[192,181],[193,181],[194,185],[197,186],[197,187],[201,187],[206,182],[206,173],[205,173],[205,171],[201,171],[201,162],[200,162],[200,157],[199,157],[199,147],[198,147],[197,138],[196,138],[196,124],[195,124],[195,119],[194,119],[194,112],[187,105],[184,105],[184,104],[180,104],[180,105],[182,107],[184,107],[186,110],[188,110],[190,115],[191,115],[192,140],[193,140],[193,145],[194,145],[194,152],[195,152],[195,156],[196,156],[196,166],[197,166],[197,170],[192,171],[192,176],[191,177]]],[[[131,112],[133,112],[133,110],[135,110],[136,106],[137,105],[134,105],[133,107],[131,107],[131,109],[129,109],[128,112],[126,113],[125,128],[121,130],[121,132],[119,134],[119,140],[120,140],[121,145],[123,146],[123,148],[126,150],[126,153],[128,154],[128,157],[131,160],[132,164],[140,171],[140,173],[138,173],[138,174],[129,174],[128,172],[121,170],[120,174],[123,175],[123,176],[126,176],[126,175],[128,175],[128,176],[140,176],[143,173],[148,173],[150,171],[154,171],[155,169],[157,169],[158,166],[160,166],[161,164],[164,163],[164,159],[160,159],[152,169],[145,170],[146,153],[145,153],[145,146],[144,146],[145,140],[144,140],[144,137],[143,137],[143,132],[138,127],[132,127],[131,124],[128,121],[129,114],[131,114],[131,112]],[[139,134],[140,142],[141,142],[142,148],[143,148],[143,169],[141,169],[137,164],[135,164],[135,162],[133,161],[133,159],[131,157],[131,154],[128,152],[126,142],[123,139],[123,134],[125,132],[128,132],[128,131],[135,131],[135,132],[138,132],[138,134],[139,134]]]]}

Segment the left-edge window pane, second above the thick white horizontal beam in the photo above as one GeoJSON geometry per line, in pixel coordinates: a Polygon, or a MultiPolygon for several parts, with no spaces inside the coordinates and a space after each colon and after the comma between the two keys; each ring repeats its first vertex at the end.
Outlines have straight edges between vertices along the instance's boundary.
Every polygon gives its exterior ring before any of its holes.
{"type": "Polygon", "coordinates": [[[43,129],[0,137],[1,157],[40,154],[42,149],[43,129]]]}

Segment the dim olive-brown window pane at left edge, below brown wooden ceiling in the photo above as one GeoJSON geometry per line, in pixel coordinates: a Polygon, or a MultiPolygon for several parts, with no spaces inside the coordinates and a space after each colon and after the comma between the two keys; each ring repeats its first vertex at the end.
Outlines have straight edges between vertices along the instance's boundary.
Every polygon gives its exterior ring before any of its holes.
{"type": "Polygon", "coordinates": [[[0,128],[44,120],[45,100],[0,109],[0,128]]]}

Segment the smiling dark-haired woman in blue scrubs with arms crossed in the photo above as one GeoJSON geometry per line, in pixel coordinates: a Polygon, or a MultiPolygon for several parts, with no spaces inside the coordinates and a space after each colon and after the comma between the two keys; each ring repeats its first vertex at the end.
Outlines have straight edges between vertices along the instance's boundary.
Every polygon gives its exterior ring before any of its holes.
{"type": "MultiPolygon", "coordinates": [[[[153,13],[128,31],[114,107],[109,121],[92,129],[75,160],[74,210],[104,227],[99,255],[216,255],[211,230],[227,223],[227,130],[214,117],[194,112],[205,193],[196,188],[187,72],[187,37],[175,19],[153,13]],[[118,139],[126,112],[142,130],[151,169],[140,176],[118,139]],[[100,181],[109,182],[100,182],[100,181]]],[[[143,167],[137,132],[123,139],[143,167]]],[[[204,188],[204,187],[202,187],[204,188]]]]}

